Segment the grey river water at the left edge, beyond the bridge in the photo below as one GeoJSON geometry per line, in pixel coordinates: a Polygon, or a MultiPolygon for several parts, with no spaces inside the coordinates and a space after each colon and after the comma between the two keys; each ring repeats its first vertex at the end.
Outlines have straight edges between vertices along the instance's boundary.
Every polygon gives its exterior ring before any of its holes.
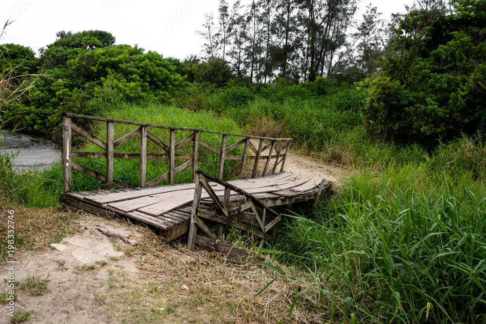
{"type": "Polygon", "coordinates": [[[1,154],[18,153],[14,159],[20,170],[44,170],[61,160],[62,146],[45,138],[16,132],[0,133],[1,154]]]}

